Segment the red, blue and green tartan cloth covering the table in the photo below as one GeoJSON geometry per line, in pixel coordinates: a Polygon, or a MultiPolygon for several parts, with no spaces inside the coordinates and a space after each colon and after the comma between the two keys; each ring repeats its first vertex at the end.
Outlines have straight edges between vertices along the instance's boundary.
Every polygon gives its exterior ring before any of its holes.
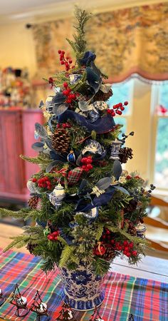
{"type": "MultiPolygon", "coordinates": [[[[41,260],[33,255],[16,253],[9,250],[0,252],[0,288],[5,297],[9,297],[16,283],[21,295],[33,302],[36,290],[39,290],[43,302],[51,312],[51,321],[56,320],[61,310],[61,278],[58,270],[48,275],[40,270],[41,260]]],[[[105,277],[105,300],[100,307],[100,315],[105,321],[125,321],[133,315],[135,321],[168,320],[168,284],[146,280],[130,275],[108,272],[105,277]]],[[[19,320],[14,314],[16,307],[8,301],[0,307],[0,317],[4,320],[19,320]]],[[[76,320],[90,320],[91,312],[75,312],[76,320]]],[[[21,320],[21,319],[20,319],[21,320]]],[[[22,320],[36,320],[36,314],[29,312],[22,320]]],[[[46,317],[41,318],[42,321],[46,317]]]]}

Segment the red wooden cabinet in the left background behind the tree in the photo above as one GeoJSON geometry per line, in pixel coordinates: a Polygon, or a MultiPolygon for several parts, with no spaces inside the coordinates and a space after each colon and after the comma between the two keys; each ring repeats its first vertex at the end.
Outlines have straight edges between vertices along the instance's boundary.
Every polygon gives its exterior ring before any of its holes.
{"type": "Polygon", "coordinates": [[[0,110],[0,198],[26,202],[26,181],[39,168],[23,161],[19,156],[36,156],[31,148],[34,123],[43,123],[40,110],[11,108],[0,110]]]}

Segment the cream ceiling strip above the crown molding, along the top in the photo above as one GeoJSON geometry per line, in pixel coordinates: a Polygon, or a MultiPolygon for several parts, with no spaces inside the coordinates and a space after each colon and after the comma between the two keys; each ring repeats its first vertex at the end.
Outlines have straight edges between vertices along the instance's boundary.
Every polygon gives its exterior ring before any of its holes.
{"type": "Polygon", "coordinates": [[[38,21],[49,16],[69,16],[74,4],[92,12],[152,4],[167,0],[0,0],[0,24],[25,20],[38,21]]]}

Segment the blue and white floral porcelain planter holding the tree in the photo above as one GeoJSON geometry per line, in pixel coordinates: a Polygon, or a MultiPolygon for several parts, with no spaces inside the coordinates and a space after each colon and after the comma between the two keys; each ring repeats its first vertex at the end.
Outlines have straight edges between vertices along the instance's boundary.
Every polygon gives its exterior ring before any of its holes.
{"type": "Polygon", "coordinates": [[[74,310],[93,310],[105,298],[104,277],[95,275],[93,268],[85,263],[76,270],[60,269],[63,281],[62,299],[74,310]]]}

